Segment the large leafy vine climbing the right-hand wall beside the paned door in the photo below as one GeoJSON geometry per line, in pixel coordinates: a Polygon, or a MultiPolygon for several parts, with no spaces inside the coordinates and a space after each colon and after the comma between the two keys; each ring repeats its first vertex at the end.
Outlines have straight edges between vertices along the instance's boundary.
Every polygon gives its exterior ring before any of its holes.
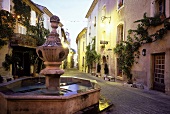
{"type": "Polygon", "coordinates": [[[147,17],[146,13],[143,15],[143,19],[137,20],[134,23],[139,23],[136,30],[129,30],[126,41],[121,41],[114,48],[120,60],[120,68],[128,79],[132,79],[131,67],[134,63],[138,63],[140,52],[139,47],[145,43],[152,43],[160,40],[164,37],[167,31],[170,29],[170,17],[162,20],[160,16],[147,17]],[[163,24],[164,27],[156,31],[154,34],[149,34],[148,29],[163,24]]]}

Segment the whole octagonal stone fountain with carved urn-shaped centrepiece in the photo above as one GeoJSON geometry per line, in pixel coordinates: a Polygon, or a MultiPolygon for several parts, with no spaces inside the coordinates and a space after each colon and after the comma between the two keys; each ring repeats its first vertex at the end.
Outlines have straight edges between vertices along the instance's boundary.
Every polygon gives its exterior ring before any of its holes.
{"type": "Polygon", "coordinates": [[[62,77],[62,60],[68,55],[56,32],[60,22],[50,18],[52,31],[46,42],[37,47],[38,56],[46,66],[42,77],[24,77],[0,84],[2,114],[76,114],[82,110],[98,113],[100,87],[94,80],[62,77]],[[41,83],[39,83],[41,82],[41,83]]]}

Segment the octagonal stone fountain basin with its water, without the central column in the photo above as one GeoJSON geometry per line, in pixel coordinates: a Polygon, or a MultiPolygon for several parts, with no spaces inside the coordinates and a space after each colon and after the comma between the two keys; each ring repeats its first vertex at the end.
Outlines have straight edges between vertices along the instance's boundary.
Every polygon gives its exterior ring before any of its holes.
{"type": "MultiPolygon", "coordinates": [[[[100,87],[94,80],[61,77],[62,95],[44,94],[45,77],[25,77],[0,85],[2,114],[74,114],[98,106],[100,87]]],[[[98,109],[94,110],[98,112],[98,109]]]]}

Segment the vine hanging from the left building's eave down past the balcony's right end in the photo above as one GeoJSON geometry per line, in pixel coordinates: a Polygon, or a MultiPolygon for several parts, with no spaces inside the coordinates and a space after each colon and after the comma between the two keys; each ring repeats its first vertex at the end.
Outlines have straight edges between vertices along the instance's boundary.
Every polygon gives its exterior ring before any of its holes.
{"type": "Polygon", "coordinates": [[[37,46],[42,45],[45,42],[44,37],[50,33],[49,30],[45,29],[43,23],[39,21],[36,26],[30,25],[30,6],[26,5],[25,2],[22,2],[22,0],[13,0],[13,2],[15,9],[15,17],[17,17],[18,15],[20,16],[18,20],[24,26],[27,27],[27,35],[30,35],[32,36],[32,38],[36,39],[37,46]]]}

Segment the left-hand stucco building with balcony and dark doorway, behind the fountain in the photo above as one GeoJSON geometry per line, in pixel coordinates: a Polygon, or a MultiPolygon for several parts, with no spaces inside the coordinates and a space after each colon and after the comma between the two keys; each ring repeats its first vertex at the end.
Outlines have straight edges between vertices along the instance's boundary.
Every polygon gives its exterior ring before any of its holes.
{"type": "MultiPolygon", "coordinates": [[[[43,68],[42,61],[36,57],[36,47],[44,43],[51,31],[50,17],[53,14],[31,0],[0,0],[0,8],[10,12],[16,20],[13,36],[0,49],[0,74],[4,78],[36,75],[43,68]],[[2,64],[9,62],[5,60],[7,56],[13,60],[9,63],[10,69],[5,71],[2,64]]],[[[67,38],[62,27],[60,23],[57,32],[62,44],[65,44],[67,38]]]]}

